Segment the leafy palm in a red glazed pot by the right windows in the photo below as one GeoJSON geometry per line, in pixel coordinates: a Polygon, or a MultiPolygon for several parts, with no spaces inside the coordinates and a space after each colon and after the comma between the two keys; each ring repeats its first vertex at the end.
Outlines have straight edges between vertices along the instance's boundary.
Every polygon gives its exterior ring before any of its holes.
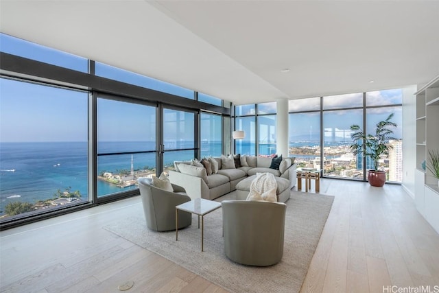
{"type": "Polygon", "coordinates": [[[358,125],[351,126],[353,133],[351,137],[354,143],[350,146],[353,154],[363,154],[366,158],[369,157],[375,169],[368,170],[368,181],[372,186],[381,187],[385,183],[385,171],[379,170],[378,161],[381,156],[388,156],[389,151],[393,146],[390,145],[390,140],[394,140],[391,137],[393,130],[398,125],[390,119],[394,116],[394,113],[390,114],[387,119],[379,121],[375,128],[375,134],[366,134],[358,125]]]}

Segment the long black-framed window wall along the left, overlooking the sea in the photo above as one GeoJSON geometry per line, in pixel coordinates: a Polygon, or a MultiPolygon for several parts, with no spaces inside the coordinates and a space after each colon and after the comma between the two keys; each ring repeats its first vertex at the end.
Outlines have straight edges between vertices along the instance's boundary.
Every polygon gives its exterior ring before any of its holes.
{"type": "Polygon", "coordinates": [[[141,176],[222,153],[230,102],[1,33],[0,51],[1,228],[139,194],[141,176]]]}

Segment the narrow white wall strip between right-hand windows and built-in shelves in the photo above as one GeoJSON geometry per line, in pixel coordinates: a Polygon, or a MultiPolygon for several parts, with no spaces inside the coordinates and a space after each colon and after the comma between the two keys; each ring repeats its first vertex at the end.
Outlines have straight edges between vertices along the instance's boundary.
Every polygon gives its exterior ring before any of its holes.
{"type": "Polygon", "coordinates": [[[416,85],[403,88],[403,187],[412,198],[416,168],[416,91],[416,85]]]}

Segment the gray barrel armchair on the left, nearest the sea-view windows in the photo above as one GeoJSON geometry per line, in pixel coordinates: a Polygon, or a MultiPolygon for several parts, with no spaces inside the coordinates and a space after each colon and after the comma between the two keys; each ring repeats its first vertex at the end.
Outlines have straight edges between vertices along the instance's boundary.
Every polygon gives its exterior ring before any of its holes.
{"type": "MultiPolygon", "coordinates": [[[[172,185],[174,192],[158,189],[152,185],[151,178],[139,178],[140,196],[143,203],[146,225],[154,231],[171,231],[176,229],[176,206],[189,202],[184,188],[172,185]]],[[[185,228],[192,223],[191,213],[178,213],[178,228],[185,228]]]]}

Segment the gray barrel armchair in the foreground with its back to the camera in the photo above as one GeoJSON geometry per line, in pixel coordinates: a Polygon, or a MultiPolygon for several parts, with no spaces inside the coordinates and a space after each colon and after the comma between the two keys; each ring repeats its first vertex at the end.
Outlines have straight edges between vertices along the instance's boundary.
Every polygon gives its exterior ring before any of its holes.
{"type": "Polygon", "coordinates": [[[282,202],[224,200],[226,256],[249,266],[272,266],[281,261],[286,210],[282,202]]]}

